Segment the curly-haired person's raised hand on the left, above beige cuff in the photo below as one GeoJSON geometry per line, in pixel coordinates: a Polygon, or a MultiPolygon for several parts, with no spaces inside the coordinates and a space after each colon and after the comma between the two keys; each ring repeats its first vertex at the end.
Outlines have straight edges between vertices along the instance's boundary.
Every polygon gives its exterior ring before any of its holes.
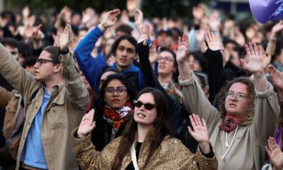
{"type": "Polygon", "coordinates": [[[189,38],[187,37],[187,34],[183,35],[182,40],[179,37],[178,50],[176,53],[176,60],[179,64],[185,62],[185,58],[187,57],[187,53],[189,52],[188,46],[189,46],[189,38]]]}

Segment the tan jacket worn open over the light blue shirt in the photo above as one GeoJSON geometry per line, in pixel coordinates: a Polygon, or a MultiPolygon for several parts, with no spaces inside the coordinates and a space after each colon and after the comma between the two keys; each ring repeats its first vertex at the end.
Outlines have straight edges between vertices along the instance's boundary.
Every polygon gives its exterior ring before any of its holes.
{"type": "MultiPolygon", "coordinates": [[[[25,103],[25,125],[18,148],[16,169],[30,125],[42,105],[43,84],[17,64],[3,45],[0,45],[0,74],[21,94],[25,103]],[[35,97],[30,100],[35,94],[35,97]]],[[[53,86],[50,101],[42,118],[41,139],[48,169],[79,169],[71,151],[71,131],[83,116],[88,101],[88,91],[81,81],[74,58],[61,61],[64,84],[53,86]]]]}

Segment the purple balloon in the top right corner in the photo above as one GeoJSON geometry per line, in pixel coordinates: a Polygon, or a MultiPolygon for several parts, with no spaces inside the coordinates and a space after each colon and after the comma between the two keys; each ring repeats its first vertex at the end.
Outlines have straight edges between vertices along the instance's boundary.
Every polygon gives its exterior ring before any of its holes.
{"type": "Polygon", "coordinates": [[[260,23],[283,18],[283,0],[249,0],[250,11],[260,23]]]}

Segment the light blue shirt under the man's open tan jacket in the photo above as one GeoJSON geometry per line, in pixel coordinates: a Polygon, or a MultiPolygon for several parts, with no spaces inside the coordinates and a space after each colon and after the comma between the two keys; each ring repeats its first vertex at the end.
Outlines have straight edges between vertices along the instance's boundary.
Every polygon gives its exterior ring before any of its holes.
{"type": "Polygon", "coordinates": [[[42,105],[28,130],[28,136],[21,154],[21,162],[40,169],[48,169],[41,141],[41,123],[49,99],[50,94],[48,94],[46,88],[44,88],[42,105]]]}

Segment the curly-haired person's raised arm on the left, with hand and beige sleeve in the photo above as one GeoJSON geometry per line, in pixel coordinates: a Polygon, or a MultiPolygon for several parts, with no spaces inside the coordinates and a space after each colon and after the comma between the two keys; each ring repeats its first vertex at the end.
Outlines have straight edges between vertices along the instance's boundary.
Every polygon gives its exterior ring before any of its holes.
{"type": "Polygon", "coordinates": [[[207,122],[210,136],[215,128],[216,122],[221,118],[221,114],[210,104],[200,85],[197,83],[195,74],[192,73],[192,70],[185,61],[187,57],[187,43],[187,35],[183,35],[183,40],[179,38],[177,62],[180,72],[179,83],[182,86],[182,94],[184,97],[183,101],[187,111],[196,113],[204,118],[207,122]]]}

